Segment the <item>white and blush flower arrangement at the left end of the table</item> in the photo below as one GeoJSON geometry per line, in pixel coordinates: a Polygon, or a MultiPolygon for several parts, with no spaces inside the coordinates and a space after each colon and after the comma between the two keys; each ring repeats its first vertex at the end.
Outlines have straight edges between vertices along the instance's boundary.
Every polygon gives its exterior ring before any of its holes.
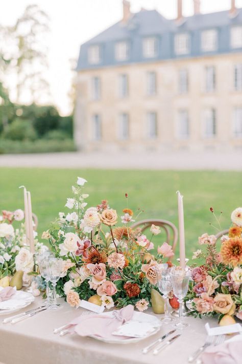
{"type": "MultiPolygon", "coordinates": [[[[26,242],[25,225],[21,221],[25,213],[21,209],[15,211],[3,210],[0,216],[0,286],[9,286],[11,277],[16,271],[23,272],[23,285],[31,284],[29,273],[34,268],[33,254],[26,242]],[[19,224],[14,229],[13,223],[19,224]]],[[[37,232],[35,232],[35,238],[37,232]]],[[[35,249],[41,253],[48,248],[35,239],[35,249]]],[[[37,292],[38,293],[38,292],[37,292]]]]}

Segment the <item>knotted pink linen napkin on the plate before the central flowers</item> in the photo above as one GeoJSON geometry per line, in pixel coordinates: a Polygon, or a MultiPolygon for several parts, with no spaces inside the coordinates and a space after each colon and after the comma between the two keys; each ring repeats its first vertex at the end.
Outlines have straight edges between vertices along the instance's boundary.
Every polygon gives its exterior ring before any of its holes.
{"type": "MultiPolygon", "coordinates": [[[[112,311],[112,316],[90,315],[79,316],[71,322],[76,325],[74,331],[80,336],[96,335],[104,338],[114,337],[112,332],[117,330],[119,326],[129,321],[134,313],[134,307],[128,305],[121,310],[112,311]]],[[[118,336],[120,339],[126,339],[125,336],[118,336]]]]}

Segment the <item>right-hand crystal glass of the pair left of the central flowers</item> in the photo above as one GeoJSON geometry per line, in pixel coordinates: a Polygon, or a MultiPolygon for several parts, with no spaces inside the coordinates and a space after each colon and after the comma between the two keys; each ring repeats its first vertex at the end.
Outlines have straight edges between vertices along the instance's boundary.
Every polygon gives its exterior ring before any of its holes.
{"type": "Polygon", "coordinates": [[[63,260],[59,258],[50,258],[46,262],[47,276],[53,285],[53,301],[50,309],[56,310],[60,305],[56,301],[56,283],[59,281],[62,273],[63,260]]]}

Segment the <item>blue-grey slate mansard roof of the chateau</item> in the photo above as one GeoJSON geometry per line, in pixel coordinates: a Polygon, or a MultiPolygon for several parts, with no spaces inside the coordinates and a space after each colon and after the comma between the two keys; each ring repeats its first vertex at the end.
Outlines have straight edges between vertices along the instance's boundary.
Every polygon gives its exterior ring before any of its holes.
{"type": "Polygon", "coordinates": [[[231,16],[229,11],[195,14],[184,17],[181,23],[164,18],[156,10],[142,10],[133,14],[127,24],[124,25],[120,21],[85,42],[80,48],[77,70],[181,57],[199,57],[205,54],[241,52],[241,48],[231,49],[230,46],[230,28],[237,25],[242,25],[242,9],[237,9],[234,16],[231,16]],[[206,29],[217,30],[218,44],[214,52],[201,51],[201,32],[206,29]],[[189,54],[175,54],[174,37],[178,33],[190,35],[189,54]],[[149,36],[157,38],[158,49],[154,58],[147,59],[142,55],[142,39],[149,36]],[[126,40],[130,45],[129,59],[126,61],[117,61],[114,57],[115,43],[120,40],[126,40]],[[97,65],[88,63],[88,48],[93,45],[101,46],[101,61],[97,65]]]}

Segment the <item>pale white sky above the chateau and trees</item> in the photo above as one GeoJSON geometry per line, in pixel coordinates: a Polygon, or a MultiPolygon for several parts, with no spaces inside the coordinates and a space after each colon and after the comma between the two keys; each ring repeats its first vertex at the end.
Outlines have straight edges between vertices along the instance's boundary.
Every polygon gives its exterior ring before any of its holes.
{"type": "MultiPolygon", "coordinates": [[[[0,0],[0,24],[13,25],[30,4],[38,4],[50,17],[48,81],[52,102],[62,115],[70,112],[67,94],[70,90],[70,59],[77,59],[82,43],[118,22],[123,15],[122,0],[0,0]]],[[[131,0],[131,11],[141,7],[157,9],[167,18],[175,18],[177,0],[131,0]]],[[[193,1],[183,0],[183,13],[192,15],[193,1]]],[[[242,7],[242,0],[236,1],[242,7]]],[[[201,0],[201,12],[226,10],[230,0],[201,0]]],[[[14,95],[14,90],[11,93],[14,95]]],[[[28,102],[28,100],[26,100],[28,102]]]]}

